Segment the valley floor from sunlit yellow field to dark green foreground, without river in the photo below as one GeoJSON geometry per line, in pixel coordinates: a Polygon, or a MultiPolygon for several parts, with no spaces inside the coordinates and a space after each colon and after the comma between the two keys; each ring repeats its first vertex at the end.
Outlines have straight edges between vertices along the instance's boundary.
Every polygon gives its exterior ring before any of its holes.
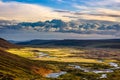
{"type": "Polygon", "coordinates": [[[115,69],[113,70],[114,72],[106,73],[107,78],[100,78],[103,73],[96,74],[92,72],[92,70],[105,70],[113,68],[109,65],[110,62],[120,65],[120,61],[118,59],[119,56],[114,56],[119,55],[119,49],[109,49],[108,53],[108,49],[22,47],[7,49],[6,52],[18,55],[39,64],[40,69],[35,72],[40,73],[41,77],[40,79],[36,78],[35,80],[41,80],[42,78],[46,80],[120,79],[120,69],[115,69]],[[69,65],[77,65],[82,68],[89,69],[89,72],[84,72],[83,70],[76,69],[69,65]],[[58,78],[46,78],[47,74],[60,71],[66,71],[67,73],[59,76],[58,78]]]}

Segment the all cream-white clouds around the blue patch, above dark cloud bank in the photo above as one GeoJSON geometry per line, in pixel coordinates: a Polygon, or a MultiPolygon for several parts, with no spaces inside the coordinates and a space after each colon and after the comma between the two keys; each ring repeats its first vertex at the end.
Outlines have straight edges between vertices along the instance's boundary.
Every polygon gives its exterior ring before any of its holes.
{"type": "MultiPolygon", "coordinates": [[[[57,0],[64,1],[64,0],[57,0]]],[[[73,0],[75,1],[75,0],[73,0]]],[[[64,21],[76,19],[89,20],[106,20],[106,21],[120,21],[120,11],[117,9],[107,8],[104,5],[111,5],[111,3],[119,3],[119,0],[101,0],[94,3],[86,2],[86,5],[73,4],[76,11],[80,15],[74,14],[75,11],[56,12],[55,9],[35,4],[18,3],[18,2],[2,2],[0,0],[0,19],[4,20],[18,20],[18,21],[45,21],[51,19],[62,19],[64,21]],[[101,3],[102,2],[102,3],[101,3]],[[105,3],[106,2],[106,3],[105,3]],[[93,7],[93,5],[96,7],[93,7]],[[103,7],[101,7],[103,6],[103,7]],[[92,15],[91,15],[92,14],[92,15]],[[101,15],[93,15],[101,14],[101,15]],[[111,15],[111,16],[110,16],[111,15]]]]}

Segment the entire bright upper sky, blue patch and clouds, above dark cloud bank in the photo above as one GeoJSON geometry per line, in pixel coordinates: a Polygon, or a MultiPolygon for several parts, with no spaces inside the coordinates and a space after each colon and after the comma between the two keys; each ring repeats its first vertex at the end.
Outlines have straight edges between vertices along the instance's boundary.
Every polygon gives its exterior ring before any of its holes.
{"type": "Polygon", "coordinates": [[[120,22],[120,0],[0,0],[0,20],[120,22]]]}

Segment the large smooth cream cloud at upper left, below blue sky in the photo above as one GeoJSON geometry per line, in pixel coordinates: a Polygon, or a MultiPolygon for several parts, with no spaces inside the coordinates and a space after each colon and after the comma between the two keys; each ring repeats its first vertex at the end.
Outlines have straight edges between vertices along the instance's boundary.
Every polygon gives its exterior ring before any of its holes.
{"type": "Polygon", "coordinates": [[[19,20],[19,21],[39,21],[50,19],[63,19],[61,14],[54,12],[52,8],[18,3],[18,2],[2,2],[0,1],[0,19],[19,20]]]}

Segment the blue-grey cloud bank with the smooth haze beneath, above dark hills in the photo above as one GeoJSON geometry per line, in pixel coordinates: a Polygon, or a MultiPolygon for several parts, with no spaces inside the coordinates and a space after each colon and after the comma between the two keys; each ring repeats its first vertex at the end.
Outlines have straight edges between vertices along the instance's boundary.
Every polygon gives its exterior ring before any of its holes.
{"type": "Polygon", "coordinates": [[[110,39],[120,37],[120,23],[96,20],[44,22],[0,20],[0,37],[9,40],[31,39],[110,39]]]}

